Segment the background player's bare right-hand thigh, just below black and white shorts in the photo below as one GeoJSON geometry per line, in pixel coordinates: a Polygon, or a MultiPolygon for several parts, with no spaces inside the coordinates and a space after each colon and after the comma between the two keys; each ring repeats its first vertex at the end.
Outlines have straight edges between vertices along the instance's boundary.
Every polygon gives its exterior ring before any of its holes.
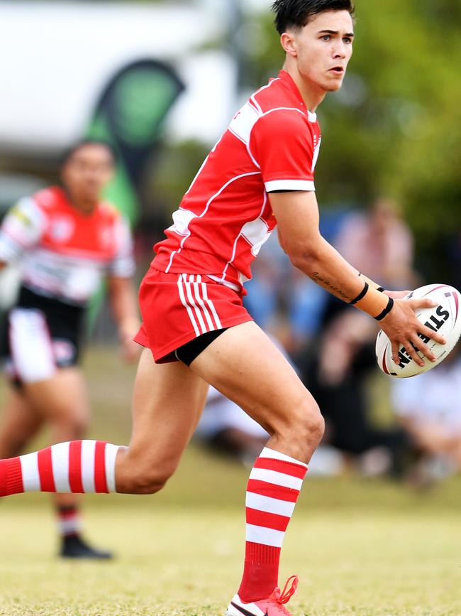
{"type": "Polygon", "coordinates": [[[89,421],[89,399],[82,370],[57,368],[48,379],[23,384],[27,401],[46,421],[84,429],[89,421]]]}

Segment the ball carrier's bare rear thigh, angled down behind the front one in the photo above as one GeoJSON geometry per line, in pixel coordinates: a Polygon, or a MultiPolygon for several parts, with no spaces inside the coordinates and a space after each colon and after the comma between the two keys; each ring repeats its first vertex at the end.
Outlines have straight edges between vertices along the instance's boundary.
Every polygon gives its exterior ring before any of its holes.
{"type": "Polygon", "coordinates": [[[130,456],[177,464],[203,410],[208,384],[181,362],[155,364],[150,350],[140,357],[133,392],[130,456]]]}

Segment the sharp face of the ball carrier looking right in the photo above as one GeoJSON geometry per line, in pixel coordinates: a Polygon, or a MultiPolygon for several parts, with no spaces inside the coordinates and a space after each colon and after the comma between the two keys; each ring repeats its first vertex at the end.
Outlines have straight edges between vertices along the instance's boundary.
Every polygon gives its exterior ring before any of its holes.
{"type": "Polygon", "coordinates": [[[293,33],[296,63],[306,83],[335,92],[343,84],[352,55],[354,28],[348,11],[324,11],[293,33]]]}

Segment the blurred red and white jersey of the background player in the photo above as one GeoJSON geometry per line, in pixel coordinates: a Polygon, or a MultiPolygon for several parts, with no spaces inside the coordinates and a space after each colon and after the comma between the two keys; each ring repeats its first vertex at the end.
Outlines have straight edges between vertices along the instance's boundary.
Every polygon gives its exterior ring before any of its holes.
{"type": "Polygon", "coordinates": [[[112,205],[91,214],[72,207],[65,191],[46,188],[21,199],[0,228],[0,261],[21,259],[21,281],[36,293],[84,304],[105,274],[133,276],[128,224],[112,205]]]}

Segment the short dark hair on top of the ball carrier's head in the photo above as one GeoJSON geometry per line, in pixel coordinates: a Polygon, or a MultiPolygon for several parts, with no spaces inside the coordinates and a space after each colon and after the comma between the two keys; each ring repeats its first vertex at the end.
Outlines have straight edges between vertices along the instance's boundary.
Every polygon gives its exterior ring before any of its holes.
{"type": "Polygon", "coordinates": [[[288,28],[303,28],[317,13],[348,11],[352,15],[354,10],[351,0],[275,0],[272,4],[275,27],[279,34],[288,28]]]}

